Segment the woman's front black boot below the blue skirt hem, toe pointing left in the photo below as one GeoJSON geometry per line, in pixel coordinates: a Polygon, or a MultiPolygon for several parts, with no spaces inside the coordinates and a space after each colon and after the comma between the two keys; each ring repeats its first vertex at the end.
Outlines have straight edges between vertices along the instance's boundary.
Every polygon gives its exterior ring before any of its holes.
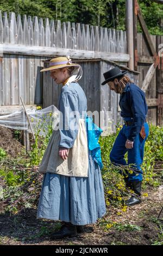
{"type": "Polygon", "coordinates": [[[65,237],[74,237],[77,235],[76,226],[72,224],[66,224],[65,222],[65,225],[62,225],[61,229],[52,233],[50,237],[51,239],[62,239],[65,237]]]}

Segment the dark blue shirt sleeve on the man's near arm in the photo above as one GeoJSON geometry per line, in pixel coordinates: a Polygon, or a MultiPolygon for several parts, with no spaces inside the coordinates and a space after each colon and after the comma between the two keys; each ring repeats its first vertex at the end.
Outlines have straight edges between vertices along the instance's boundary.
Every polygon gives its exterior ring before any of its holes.
{"type": "Polygon", "coordinates": [[[133,113],[133,124],[131,126],[128,139],[134,141],[135,137],[140,133],[143,123],[146,119],[145,102],[138,90],[128,92],[128,99],[133,113]]]}

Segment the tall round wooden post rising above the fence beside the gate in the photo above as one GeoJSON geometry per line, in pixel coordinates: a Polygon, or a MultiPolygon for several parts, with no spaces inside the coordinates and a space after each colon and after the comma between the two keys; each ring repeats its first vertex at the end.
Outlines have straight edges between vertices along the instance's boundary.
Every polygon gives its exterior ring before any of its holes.
{"type": "Polygon", "coordinates": [[[134,70],[133,1],[126,0],[127,49],[130,56],[128,66],[134,70]]]}

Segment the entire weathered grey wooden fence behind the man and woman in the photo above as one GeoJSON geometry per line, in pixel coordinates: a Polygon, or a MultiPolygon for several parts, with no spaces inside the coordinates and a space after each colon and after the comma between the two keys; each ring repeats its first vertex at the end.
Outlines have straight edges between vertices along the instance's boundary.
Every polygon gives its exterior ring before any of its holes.
{"type": "MultiPolygon", "coordinates": [[[[152,39],[155,42],[156,36],[152,36],[152,39]]],[[[136,72],[129,72],[128,75],[141,87],[151,58],[141,34],[137,42],[141,54],[140,75],[138,77],[136,72]]],[[[118,95],[110,92],[107,86],[101,87],[101,82],[102,74],[112,68],[115,62],[127,66],[129,55],[126,32],[80,23],[43,20],[36,16],[16,17],[15,13],[10,13],[8,17],[7,13],[2,15],[1,11],[0,114],[17,109],[21,105],[20,96],[28,107],[42,103],[43,107],[57,105],[60,86],[54,84],[51,78],[46,79],[47,75],[42,75],[40,70],[46,65],[45,60],[67,54],[83,67],[80,84],[87,96],[88,110],[111,111],[112,127],[115,127],[120,117],[118,95]]],[[[147,95],[152,97],[156,87],[156,79],[153,78],[147,95]]],[[[155,110],[149,109],[150,113],[151,121],[155,123],[155,110]]]]}

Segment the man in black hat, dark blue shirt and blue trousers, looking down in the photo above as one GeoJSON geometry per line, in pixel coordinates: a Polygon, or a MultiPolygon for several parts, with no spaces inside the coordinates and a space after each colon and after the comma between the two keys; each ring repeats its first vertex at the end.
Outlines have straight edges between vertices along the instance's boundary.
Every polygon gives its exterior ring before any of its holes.
{"type": "MultiPolygon", "coordinates": [[[[128,152],[128,164],[133,173],[123,173],[126,187],[134,191],[133,196],[126,201],[126,205],[132,206],[141,203],[141,182],[143,154],[145,141],[148,137],[149,126],[146,121],[148,111],[145,93],[136,84],[130,81],[118,67],[105,72],[105,81],[111,90],[120,93],[121,117],[124,125],[118,134],[110,153],[110,160],[118,166],[126,166],[124,155],[128,152]]],[[[123,168],[122,168],[123,169],[123,168]]]]}

